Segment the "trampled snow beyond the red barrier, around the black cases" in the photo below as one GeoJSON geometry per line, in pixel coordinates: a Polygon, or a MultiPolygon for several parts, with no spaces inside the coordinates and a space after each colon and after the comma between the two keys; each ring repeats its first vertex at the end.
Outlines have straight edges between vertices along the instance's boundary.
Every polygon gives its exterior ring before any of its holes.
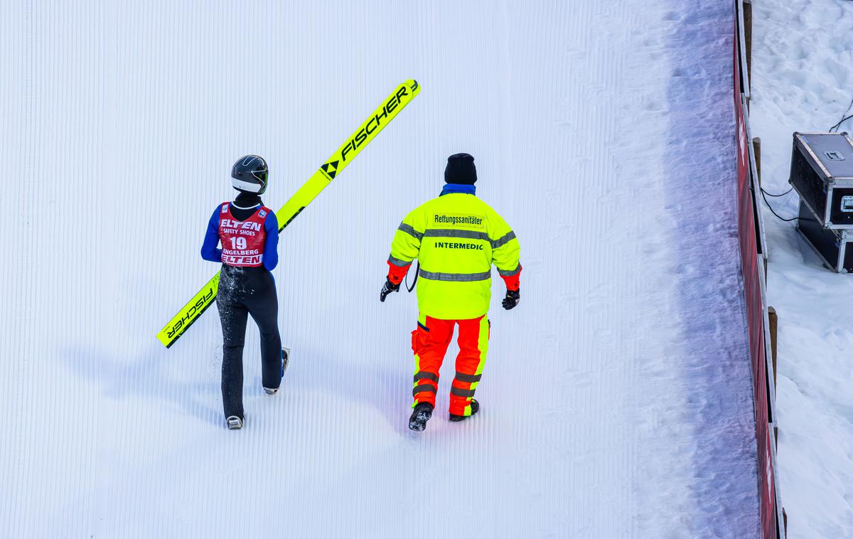
{"type": "MultiPolygon", "coordinates": [[[[853,3],[753,3],[751,130],[762,182],[784,193],[794,131],[826,131],[853,100],[853,3]]],[[[853,113],[853,109],[847,114],[853,113]]],[[[853,132],[848,120],[842,130],[853,132]]],[[[796,217],[798,196],[770,198],[796,217]]],[[[770,212],[768,299],[779,313],[779,480],[791,537],[853,536],[853,276],[821,266],[770,212]]]]}

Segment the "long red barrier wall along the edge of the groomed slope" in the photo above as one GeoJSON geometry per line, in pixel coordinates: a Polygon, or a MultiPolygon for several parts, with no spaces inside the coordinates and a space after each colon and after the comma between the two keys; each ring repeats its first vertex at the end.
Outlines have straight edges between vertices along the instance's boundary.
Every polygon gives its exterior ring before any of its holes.
{"type": "MultiPolygon", "coordinates": [[[[737,3],[735,3],[737,6],[737,3]]],[[[735,21],[740,20],[739,16],[735,21]]],[[[764,309],[761,291],[761,266],[756,242],[755,200],[752,196],[750,174],[751,141],[747,138],[748,115],[743,108],[740,81],[740,27],[734,28],[734,113],[737,121],[738,147],[738,236],[740,239],[740,261],[743,269],[744,294],[746,297],[746,324],[749,333],[749,349],[752,365],[753,396],[755,399],[755,429],[758,457],[758,496],[761,504],[762,534],[765,539],[776,539],[779,530],[776,523],[776,500],[774,484],[773,453],[770,443],[769,403],[767,380],[767,355],[764,349],[764,309]]]]}

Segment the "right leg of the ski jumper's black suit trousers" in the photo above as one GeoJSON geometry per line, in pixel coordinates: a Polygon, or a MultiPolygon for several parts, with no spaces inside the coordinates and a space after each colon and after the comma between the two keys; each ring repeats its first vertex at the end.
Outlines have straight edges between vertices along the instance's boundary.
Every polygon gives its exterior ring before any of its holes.
{"type": "Polygon", "coordinates": [[[281,334],[278,332],[276,281],[269,271],[258,275],[257,281],[258,287],[247,304],[260,331],[262,383],[264,387],[277,389],[281,385],[281,334]]]}

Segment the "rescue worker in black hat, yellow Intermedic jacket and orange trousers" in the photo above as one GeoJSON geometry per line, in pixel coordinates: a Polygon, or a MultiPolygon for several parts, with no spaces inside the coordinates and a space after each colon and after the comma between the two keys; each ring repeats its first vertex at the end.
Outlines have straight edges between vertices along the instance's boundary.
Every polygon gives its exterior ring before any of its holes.
{"type": "Polygon", "coordinates": [[[475,195],[477,169],[469,154],[454,154],[444,169],[446,185],[437,199],[410,212],[394,235],[388,276],[380,293],[385,301],[398,292],[409,266],[418,259],[418,325],[415,352],[414,409],[409,428],[421,432],[435,408],[438,370],[459,326],[459,356],[450,389],[450,420],[479,411],[474,391],[483,375],[489,348],[491,264],[507,285],[504,309],[519,304],[519,241],[506,221],[475,195]]]}

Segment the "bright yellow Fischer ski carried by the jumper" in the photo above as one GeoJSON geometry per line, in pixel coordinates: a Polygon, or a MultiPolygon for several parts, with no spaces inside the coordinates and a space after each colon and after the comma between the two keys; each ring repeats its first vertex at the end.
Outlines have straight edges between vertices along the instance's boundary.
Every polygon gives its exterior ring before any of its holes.
{"type": "MultiPolygon", "coordinates": [[[[305,209],[305,206],[310,204],[311,200],[316,198],[317,194],[332,183],[335,177],[343,171],[346,165],[349,165],[352,159],[368,145],[379,132],[388,125],[397,113],[403,110],[403,107],[409,104],[421,93],[421,86],[416,80],[407,80],[403,84],[397,86],[390,96],[372,113],[364,123],[359,126],[346,142],[338,148],[332,157],[326,159],[319,169],[308,178],[308,181],[299,188],[290,200],[281,206],[281,210],[276,212],[278,217],[279,232],[283,230],[293,219],[305,209]]],[[[177,315],[173,316],[169,323],[157,333],[157,339],[169,348],[175,344],[175,341],[186,333],[187,329],[193,325],[193,322],[199,319],[201,313],[207,310],[216,300],[216,293],[219,285],[219,274],[213,275],[210,281],[207,281],[199,293],[189,300],[189,303],[183,306],[183,309],[178,311],[177,315]]]]}

